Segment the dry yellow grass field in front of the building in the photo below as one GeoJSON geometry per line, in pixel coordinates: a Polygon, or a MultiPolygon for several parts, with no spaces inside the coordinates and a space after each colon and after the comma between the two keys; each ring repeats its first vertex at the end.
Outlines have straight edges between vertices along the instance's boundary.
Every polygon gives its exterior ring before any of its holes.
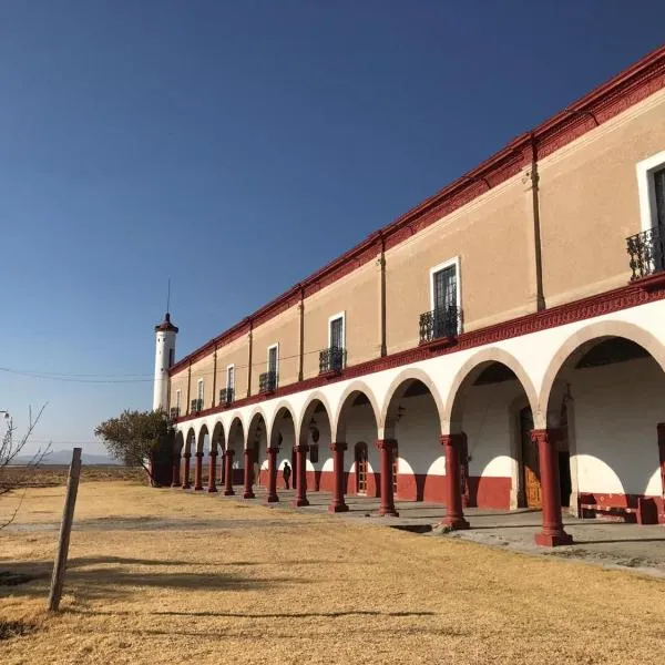
{"type": "Polygon", "coordinates": [[[81,484],[47,616],[63,497],[0,532],[3,665],[663,663],[658,580],[126,481],[81,484]]]}

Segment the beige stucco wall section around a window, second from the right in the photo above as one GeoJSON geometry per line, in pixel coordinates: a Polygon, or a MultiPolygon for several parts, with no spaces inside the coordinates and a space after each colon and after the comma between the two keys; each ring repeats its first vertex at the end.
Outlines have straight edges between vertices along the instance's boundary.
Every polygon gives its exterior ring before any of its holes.
{"type": "Polygon", "coordinates": [[[531,219],[531,191],[518,175],[391,248],[386,254],[388,352],[418,345],[419,316],[431,309],[430,268],[456,256],[464,330],[533,311],[531,219]]]}

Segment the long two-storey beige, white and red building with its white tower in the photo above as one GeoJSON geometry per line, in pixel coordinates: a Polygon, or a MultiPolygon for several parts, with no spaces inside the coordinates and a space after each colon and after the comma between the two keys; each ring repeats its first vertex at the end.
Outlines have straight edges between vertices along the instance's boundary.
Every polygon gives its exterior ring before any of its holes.
{"type": "Polygon", "coordinates": [[[157,326],[173,484],[665,523],[663,225],[665,47],[184,358],[157,326]]]}

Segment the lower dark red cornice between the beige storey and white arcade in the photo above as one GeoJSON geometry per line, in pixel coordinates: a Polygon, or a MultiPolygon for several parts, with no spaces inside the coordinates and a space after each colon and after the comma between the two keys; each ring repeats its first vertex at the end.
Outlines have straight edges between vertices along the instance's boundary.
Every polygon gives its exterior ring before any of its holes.
{"type": "Polygon", "coordinates": [[[503,339],[520,337],[531,332],[540,332],[541,330],[546,330],[549,328],[556,328],[557,326],[564,326],[565,324],[572,324],[574,321],[594,318],[604,314],[611,314],[613,311],[620,311],[622,309],[628,309],[631,307],[637,307],[638,305],[645,305],[663,299],[665,299],[665,288],[648,290],[641,282],[634,282],[628,286],[606,291],[597,296],[567,303],[566,305],[560,305],[559,307],[552,307],[551,309],[545,309],[535,314],[529,314],[510,321],[497,324],[495,326],[473,330],[472,332],[464,332],[457,338],[457,344],[451,346],[438,348],[432,347],[431,345],[419,346],[406,351],[400,351],[399,354],[392,354],[391,356],[385,356],[383,358],[376,358],[375,360],[368,360],[360,365],[347,367],[335,377],[321,375],[284,386],[283,388],[277,388],[277,390],[267,397],[264,395],[253,395],[252,397],[233,402],[229,406],[206,409],[194,416],[184,416],[183,418],[178,418],[177,422],[186,422],[187,420],[219,413],[229,409],[239,409],[241,407],[266,401],[268,399],[276,399],[286,395],[293,395],[294,392],[300,392],[301,390],[313,390],[314,388],[319,388],[336,381],[355,379],[377,371],[427,360],[428,358],[433,358],[436,356],[456,354],[464,349],[495,344],[503,339]]]}

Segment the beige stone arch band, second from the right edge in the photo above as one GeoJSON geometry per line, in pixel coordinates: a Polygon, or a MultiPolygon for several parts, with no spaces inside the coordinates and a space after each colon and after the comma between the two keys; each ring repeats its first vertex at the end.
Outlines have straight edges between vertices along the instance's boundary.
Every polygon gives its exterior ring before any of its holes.
{"type": "MultiPolygon", "coordinates": [[[[539,420],[538,392],[522,364],[512,354],[497,347],[491,347],[473,354],[456,374],[444,402],[443,418],[441,419],[443,433],[452,433],[459,430],[461,410],[463,409],[460,398],[463,390],[467,386],[473,383],[483,369],[492,362],[508,367],[515,375],[526,393],[534,420],[539,420]]],[[[536,427],[539,426],[536,424],[536,427]]]]}

